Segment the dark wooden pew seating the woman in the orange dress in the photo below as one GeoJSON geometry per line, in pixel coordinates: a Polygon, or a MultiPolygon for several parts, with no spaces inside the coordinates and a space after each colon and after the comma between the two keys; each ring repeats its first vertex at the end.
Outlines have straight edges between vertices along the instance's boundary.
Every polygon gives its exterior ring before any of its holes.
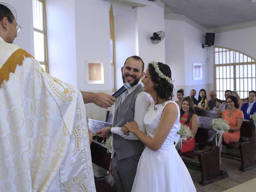
{"type": "MultiPolygon", "coordinates": [[[[223,143],[228,148],[238,148],[240,156],[231,152],[222,152],[223,155],[233,156],[241,159],[241,171],[246,171],[256,167],[256,135],[254,123],[252,121],[243,121],[240,129],[240,140],[235,143],[223,143]],[[254,149],[254,150],[253,150],[254,149]]],[[[231,150],[231,149],[230,149],[231,150]]]]}

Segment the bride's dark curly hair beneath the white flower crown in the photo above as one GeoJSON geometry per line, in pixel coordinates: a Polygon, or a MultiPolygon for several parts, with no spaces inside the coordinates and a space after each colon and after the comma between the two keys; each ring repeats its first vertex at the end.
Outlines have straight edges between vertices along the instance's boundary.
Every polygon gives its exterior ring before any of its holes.
{"type": "MultiPolygon", "coordinates": [[[[166,64],[158,62],[158,67],[160,71],[167,77],[172,79],[172,71],[170,67],[166,64]]],[[[154,83],[157,85],[154,85],[154,89],[156,90],[157,96],[159,96],[162,99],[172,99],[174,96],[173,94],[173,84],[170,84],[166,79],[160,78],[158,74],[156,73],[156,70],[152,64],[148,64],[148,70],[151,76],[151,79],[154,83]]]]}

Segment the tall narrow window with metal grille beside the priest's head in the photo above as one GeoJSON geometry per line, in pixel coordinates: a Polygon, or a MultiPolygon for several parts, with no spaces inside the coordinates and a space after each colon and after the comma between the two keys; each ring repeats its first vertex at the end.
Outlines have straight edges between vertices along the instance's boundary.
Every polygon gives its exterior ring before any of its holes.
{"type": "Polygon", "coordinates": [[[33,0],[33,26],[35,59],[40,62],[44,71],[48,72],[45,0],[33,0]]]}

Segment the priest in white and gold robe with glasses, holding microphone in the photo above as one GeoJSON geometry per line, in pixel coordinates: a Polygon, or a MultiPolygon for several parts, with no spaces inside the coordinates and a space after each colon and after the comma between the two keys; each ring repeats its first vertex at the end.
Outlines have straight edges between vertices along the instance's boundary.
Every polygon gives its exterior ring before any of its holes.
{"type": "MultiPolygon", "coordinates": [[[[96,192],[82,94],[12,44],[16,20],[0,2],[0,191],[96,192]]],[[[106,98],[85,94],[86,102],[106,98]]]]}

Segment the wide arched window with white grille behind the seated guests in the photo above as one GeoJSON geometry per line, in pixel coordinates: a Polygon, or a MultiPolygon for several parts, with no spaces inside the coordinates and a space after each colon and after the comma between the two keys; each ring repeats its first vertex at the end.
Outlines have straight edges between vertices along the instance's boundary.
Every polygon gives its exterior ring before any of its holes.
{"type": "Polygon", "coordinates": [[[225,90],[235,90],[240,98],[256,88],[255,59],[238,50],[214,46],[214,87],[217,98],[224,100],[225,90]]]}

